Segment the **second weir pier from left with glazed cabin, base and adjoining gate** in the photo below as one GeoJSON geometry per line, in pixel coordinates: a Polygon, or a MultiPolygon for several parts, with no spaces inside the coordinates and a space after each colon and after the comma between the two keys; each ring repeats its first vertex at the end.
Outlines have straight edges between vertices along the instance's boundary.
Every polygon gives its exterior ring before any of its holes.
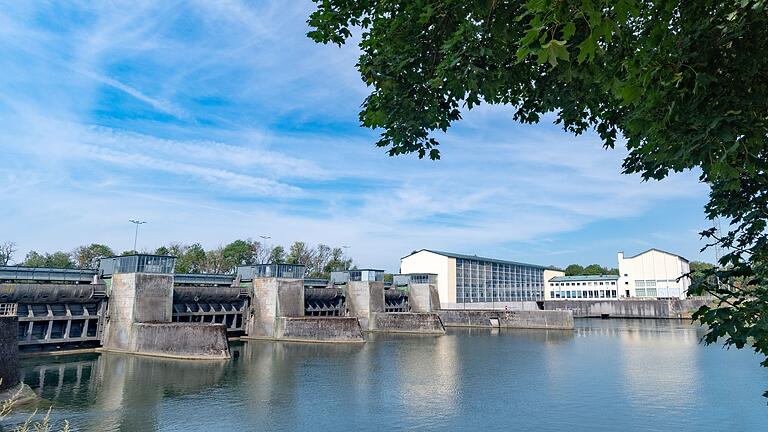
{"type": "Polygon", "coordinates": [[[303,265],[260,264],[237,268],[250,294],[245,339],[293,342],[364,342],[360,323],[343,313],[345,298],[310,285],[303,265]],[[309,313],[307,313],[309,311],[309,313]]]}

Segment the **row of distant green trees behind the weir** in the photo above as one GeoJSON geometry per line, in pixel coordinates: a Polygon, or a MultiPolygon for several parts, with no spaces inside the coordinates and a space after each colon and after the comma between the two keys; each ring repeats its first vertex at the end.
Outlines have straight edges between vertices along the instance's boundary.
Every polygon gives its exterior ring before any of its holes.
{"type": "MultiPolygon", "coordinates": [[[[16,244],[0,244],[0,265],[9,265],[16,253],[16,244]]],[[[325,244],[315,246],[296,241],[286,250],[281,245],[269,245],[252,239],[238,239],[226,245],[206,250],[200,243],[172,242],[154,251],[128,250],[117,253],[111,247],[91,243],[72,251],[38,252],[30,251],[21,261],[25,267],[82,268],[96,269],[99,260],[116,255],[135,253],[173,255],[177,257],[177,273],[233,273],[237,266],[254,264],[302,264],[306,266],[307,277],[329,277],[332,271],[349,270],[354,261],[340,247],[325,244]]]]}

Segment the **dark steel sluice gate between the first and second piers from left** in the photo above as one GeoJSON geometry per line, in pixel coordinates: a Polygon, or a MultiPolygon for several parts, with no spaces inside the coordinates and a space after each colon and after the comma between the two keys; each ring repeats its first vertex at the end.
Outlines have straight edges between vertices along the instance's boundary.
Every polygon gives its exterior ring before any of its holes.
{"type": "Polygon", "coordinates": [[[176,274],[173,322],[220,323],[227,333],[245,331],[248,290],[232,275],[176,274]]]}

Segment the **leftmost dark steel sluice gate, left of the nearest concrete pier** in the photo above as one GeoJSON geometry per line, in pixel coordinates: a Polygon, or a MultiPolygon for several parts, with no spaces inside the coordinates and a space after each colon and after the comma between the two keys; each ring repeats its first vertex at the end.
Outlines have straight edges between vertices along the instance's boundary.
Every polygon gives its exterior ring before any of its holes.
{"type": "Polygon", "coordinates": [[[0,267],[0,303],[18,304],[22,352],[100,343],[107,293],[95,270],[0,267]]]}

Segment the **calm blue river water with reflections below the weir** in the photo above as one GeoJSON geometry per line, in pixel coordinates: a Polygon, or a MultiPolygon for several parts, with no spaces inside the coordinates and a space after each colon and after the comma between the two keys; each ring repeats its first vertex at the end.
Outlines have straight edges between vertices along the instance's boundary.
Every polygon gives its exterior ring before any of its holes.
{"type": "Polygon", "coordinates": [[[90,354],[23,367],[76,430],[768,431],[768,370],[751,352],[702,347],[701,331],[678,321],[577,327],[249,342],[218,363],[90,354]]]}

